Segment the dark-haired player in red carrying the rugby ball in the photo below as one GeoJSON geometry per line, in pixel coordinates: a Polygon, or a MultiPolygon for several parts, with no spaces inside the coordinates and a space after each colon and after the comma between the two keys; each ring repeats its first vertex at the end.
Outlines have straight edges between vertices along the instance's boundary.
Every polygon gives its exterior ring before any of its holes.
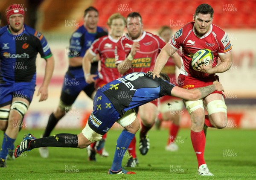
{"type": "MultiPolygon", "coordinates": [[[[199,5],[193,15],[194,22],[187,23],[179,29],[157,57],[154,76],[158,75],[170,55],[182,47],[182,67],[178,76],[180,87],[193,89],[204,87],[218,80],[215,73],[224,73],[233,63],[232,45],[226,32],[212,24],[213,9],[208,4],[199,5]],[[191,60],[199,49],[210,49],[213,52],[212,64],[205,66],[195,63],[193,70],[191,60]],[[221,62],[218,64],[218,57],[221,62]],[[217,66],[218,64],[218,66],[217,66]]],[[[204,160],[205,133],[204,123],[208,127],[225,128],[227,124],[227,106],[222,91],[214,91],[198,101],[184,101],[192,121],[191,141],[198,160],[198,174],[212,176],[204,160]],[[208,115],[205,115],[206,107],[208,115]]]]}

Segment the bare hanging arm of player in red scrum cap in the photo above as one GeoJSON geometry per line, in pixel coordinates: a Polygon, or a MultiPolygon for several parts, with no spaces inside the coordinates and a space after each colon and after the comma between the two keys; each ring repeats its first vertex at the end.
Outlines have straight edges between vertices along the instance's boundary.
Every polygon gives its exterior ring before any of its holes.
{"type": "Polygon", "coordinates": [[[38,95],[41,94],[39,102],[45,101],[48,98],[48,86],[52,78],[52,73],[54,70],[54,58],[53,56],[46,58],[46,66],[45,66],[45,73],[44,73],[44,81],[41,87],[38,90],[38,95]]]}

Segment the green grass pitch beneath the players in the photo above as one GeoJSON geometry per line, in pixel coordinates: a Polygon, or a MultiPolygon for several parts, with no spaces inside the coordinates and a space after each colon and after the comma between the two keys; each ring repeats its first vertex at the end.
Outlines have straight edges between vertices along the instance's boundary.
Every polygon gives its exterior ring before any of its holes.
{"type": "MultiPolygon", "coordinates": [[[[55,130],[53,133],[78,134],[81,130],[55,130]]],[[[26,133],[40,137],[43,130],[22,130],[15,144],[26,133]]],[[[250,130],[208,130],[205,160],[213,177],[197,175],[197,161],[190,140],[190,130],[179,132],[179,151],[165,151],[168,131],[149,132],[151,148],[148,154],[137,157],[139,166],[127,168],[137,174],[108,175],[115,150],[116,139],[121,130],[108,133],[106,149],[110,157],[97,156],[96,162],[87,161],[86,149],[49,148],[49,158],[40,157],[38,149],[24,153],[14,161],[7,161],[7,168],[0,169],[1,180],[249,180],[256,179],[256,133],[250,130]],[[224,151],[224,152],[223,152],[224,151]],[[223,155],[224,153],[224,155],[223,155]],[[227,156],[227,157],[224,157],[227,156]],[[73,172],[68,172],[73,171],[73,172]]],[[[1,141],[3,136],[0,136],[1,141]]],[[[138,134],[137,134],[138,139],[138,134]]],[[[137,140],[138,146],[139,140],[137,140]]],[[[124,157],[125,165],[128,157],[124,157]]]]}

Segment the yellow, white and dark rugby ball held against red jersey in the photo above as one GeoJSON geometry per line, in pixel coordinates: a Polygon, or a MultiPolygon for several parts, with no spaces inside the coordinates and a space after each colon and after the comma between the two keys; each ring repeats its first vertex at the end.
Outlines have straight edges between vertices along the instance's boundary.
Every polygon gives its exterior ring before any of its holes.
{"type": "MultiPolygon", "coordinates": [[[[209,63],[212,63],[213,53],[210,49],[201,49],[196,52],[192,58],[191,66],[194,70],[197,70],[195,63],[199,60],[201,64],[205,64],[207,66],[209,63]]],[[[198,65],[201,65],[201,64],[198,65]]]]}

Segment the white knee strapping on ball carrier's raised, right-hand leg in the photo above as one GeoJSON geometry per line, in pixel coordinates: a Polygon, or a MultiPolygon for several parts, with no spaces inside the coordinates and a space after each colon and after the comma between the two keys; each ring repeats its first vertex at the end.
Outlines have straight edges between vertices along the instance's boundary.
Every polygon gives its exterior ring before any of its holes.
{"type": "Polygon", "coordinates": [[[209,102],[208,105],[206,106],[206,109],[208,111],[208,115],[218,112],[227,113],[227,106],[225,105],[225,102],[222,100],[214,100],[209,102]]]}

